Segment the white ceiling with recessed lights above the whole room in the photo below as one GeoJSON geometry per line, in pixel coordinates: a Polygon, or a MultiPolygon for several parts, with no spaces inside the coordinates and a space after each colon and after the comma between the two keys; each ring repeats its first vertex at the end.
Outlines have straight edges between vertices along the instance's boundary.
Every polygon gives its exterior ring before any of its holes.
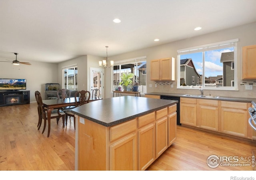
{"type": "Polygon", "coordinates": [[[0,58],[114,56],[251,22],[256,0],[0,0],[0,58]]]}

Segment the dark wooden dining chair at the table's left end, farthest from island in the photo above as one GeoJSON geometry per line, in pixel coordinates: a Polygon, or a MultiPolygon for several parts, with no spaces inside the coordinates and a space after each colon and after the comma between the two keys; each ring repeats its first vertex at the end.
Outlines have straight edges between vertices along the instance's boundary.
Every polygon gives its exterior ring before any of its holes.
{"type": "MultiPolygon", "coordinates": [[[[36,102],[38,104],[38,107],[37,107],[37,110],[38,110],[38,130],[40,129],[41,127],[41,124],[42,124],[42,119],[44,119],[44,129],[42,131],[42,134],[44,133],[44,130],[46,128],[46,120],[48,120],[48,117],[47,117],[47,109],[44,107],[43,105],[43,101],[42,101],[42,96],[40,94],[39,91],[36,91],[35,92],[35,96],[36,96],[36,102]]],[[[63,123],[63,127],[64,127],[64,121],[65,121],[65,113],[60,110],[60,109],[54,109],[52,110],[52,113],[51,113],[51,117],[50,119],[55,119],[56,118],[56,121],[57,121],[57,124],[59,122],[59,119],[62,118],[62,123],[63,123]]],[[[49,136],[48,136],[49,137],[49,136]]]]}

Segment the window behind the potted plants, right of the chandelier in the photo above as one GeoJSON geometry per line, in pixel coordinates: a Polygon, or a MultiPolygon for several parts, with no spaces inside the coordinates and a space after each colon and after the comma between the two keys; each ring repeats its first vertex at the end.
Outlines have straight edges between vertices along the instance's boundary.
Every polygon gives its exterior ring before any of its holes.
{"type": "Polygon", "coordinates": [[[123,72],[126,72],[135,74],[132,81],[140,84],[139,91],[142,94],[146,93],[146,64],[146,56],[115,61],[112,73],[112,90],[119,86],[120,76],[123,72]]]}

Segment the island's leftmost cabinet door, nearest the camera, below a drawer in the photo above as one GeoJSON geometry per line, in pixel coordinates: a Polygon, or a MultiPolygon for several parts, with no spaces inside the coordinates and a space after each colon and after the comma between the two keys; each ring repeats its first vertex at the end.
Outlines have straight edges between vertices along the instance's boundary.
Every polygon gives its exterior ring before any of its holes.
{"type": "Polygon", "coordinates": [[[110,170],[138,170],[136,133],[110,145],[110,170]]]}

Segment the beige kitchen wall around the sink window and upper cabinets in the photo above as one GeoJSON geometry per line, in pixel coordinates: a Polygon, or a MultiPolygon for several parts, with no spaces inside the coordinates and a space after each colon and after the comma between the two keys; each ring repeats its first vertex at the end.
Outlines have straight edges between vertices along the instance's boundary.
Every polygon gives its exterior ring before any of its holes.
{"type": "MultiPolygon", "coordinates": [[[[176,42],[155,46],[152,48],[146,48],[142,50],[136,50],[120,54],[118,56],[110,57],[111,60],[125,60],[130,58],[136,58],[140,56],[147,56],[147,92],[166,92],[166,93],[179,93],[179,94],[199,94],[198,90],[177,89],[170,88],[168,85],[160,85],[157,88],[154,87],[154,81],[150,80],[150,60],[159,58],[174,57],[176,59],[176,78],[177,78],[177,50],[183,48],[190,48],[194,46],[200,46],[204,44],[211,44],[214,42],[221,42],[231,39],[239,39],[237,43],[237,73],[238,73],[238,91],[223,91],[223,90],[205,90],[205,94],[211,94],[212,96],[232,96],[232,97],[245,97],[256,98],[256,87],[253,86],[253,90],[245,90],[245,86],[240,85],[242,77],[242,46],[249,46],[256,44],[256,23],[246,24],[244,26],[238,26],[236,28],[230,28],[221,30],[218,32],[205,34],[202,36],[196,36],[194,38],[187,38],[176,42]],[[149,84],[153,84],[152,88],[149,84]]],[[[175,34],[174,34],[175,36],[175,34]]],[[[107,70],[106,77],[110,74],[110,70],[107,70]]],[[[111,77],[111,76],[110,76],[111,77]]],[[[177,84],[177,80],[175,81],[177,84]]],[[[105,98],[112,97],[111,78],[105,78],[105,98]]]]}

